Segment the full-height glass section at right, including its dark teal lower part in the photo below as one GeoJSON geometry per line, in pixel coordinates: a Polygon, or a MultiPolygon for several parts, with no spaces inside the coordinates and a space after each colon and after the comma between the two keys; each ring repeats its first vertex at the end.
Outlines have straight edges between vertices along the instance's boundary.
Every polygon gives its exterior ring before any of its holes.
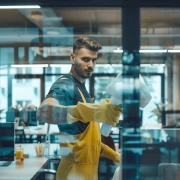
{"type": "MultiPolygon", "coordinates": [[[[140,74],[152,99],[143,126],[123,128],[123,179],[176,179],[180,120],[180,9],[140,9],[140,74]],[[146,67],[145,67],[146,66],[146,67]],[[152,71],[153,70],[153,71],[152,71]],[[174,165],[174,173],[168,172],[174,165]]],[[[140,88],[140,94],[144,92],[140,88]]],[[[140,99],[141,100],[141,99],[140,99]]]]}

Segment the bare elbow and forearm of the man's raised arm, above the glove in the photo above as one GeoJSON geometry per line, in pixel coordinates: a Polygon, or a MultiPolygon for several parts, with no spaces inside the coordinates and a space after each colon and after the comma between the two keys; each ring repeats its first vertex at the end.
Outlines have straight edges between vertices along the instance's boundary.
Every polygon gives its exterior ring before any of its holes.
{"type": "Polygon", "coordinates": [[[67,123],[68,106],[60,105],[55,98],[45,99],[38,108],[36,118],[40,123],[67,123]]]}

